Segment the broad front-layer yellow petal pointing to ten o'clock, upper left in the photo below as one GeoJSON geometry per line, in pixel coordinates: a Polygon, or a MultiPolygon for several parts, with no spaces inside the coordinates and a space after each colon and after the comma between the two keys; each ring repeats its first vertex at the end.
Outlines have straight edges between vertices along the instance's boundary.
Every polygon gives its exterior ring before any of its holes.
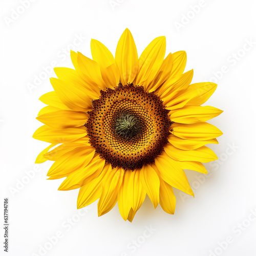
{"type": "Polygon", "coordinates": [[[92,102],[84,91],[57,78],[50,81],[60,100],[70,109],[83,112],[92,109],[92,102]]]}

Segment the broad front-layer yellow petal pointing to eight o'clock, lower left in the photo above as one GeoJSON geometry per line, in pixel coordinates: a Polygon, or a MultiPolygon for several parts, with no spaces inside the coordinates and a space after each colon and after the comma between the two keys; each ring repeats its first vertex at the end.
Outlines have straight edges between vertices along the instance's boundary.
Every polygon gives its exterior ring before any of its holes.
{"type": "Polygon", "coordinates": [[[47,176],[52,178],[67,177],[70,173],[82,165],[90,162],[95,154],[93,147],[83,146],[76,147],[61,155],[51,166],[47,176]],[[57,177],[56,177],[57,176],[57,177]]]}

